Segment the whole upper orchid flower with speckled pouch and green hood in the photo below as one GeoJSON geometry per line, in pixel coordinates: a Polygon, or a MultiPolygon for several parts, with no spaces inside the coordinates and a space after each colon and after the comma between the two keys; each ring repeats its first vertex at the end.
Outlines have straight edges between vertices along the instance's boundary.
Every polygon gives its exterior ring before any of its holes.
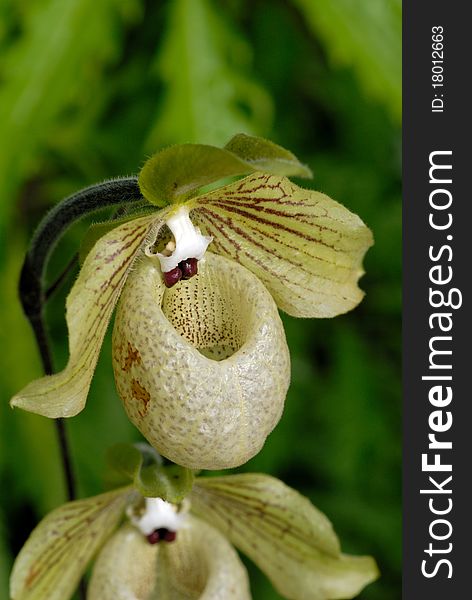
{"type": "Polygon", "coordinates": [[[27,385],[12,406],[52,418],[84,408],[121,296],[113,367],[134,425],[189,468],[254,456],[290,380],[277,308],[333,317],[363,296],[371,233],[285,177],[309,174],[287,150],[242,134],[225,148],[184,144],[149,159],[139,186],[151,212],[95,241],[67,298],[66,368],[27,385]]]}

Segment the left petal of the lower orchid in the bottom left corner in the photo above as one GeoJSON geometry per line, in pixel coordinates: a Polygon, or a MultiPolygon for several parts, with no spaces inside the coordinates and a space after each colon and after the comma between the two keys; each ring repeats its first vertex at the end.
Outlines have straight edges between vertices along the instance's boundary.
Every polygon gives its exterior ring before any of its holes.
{"type": "Polygon", "coordinates": [[[53,510],[16,559],[10,581],[12,600],[68,600],[133,494],[125,488],[53,510]]]}

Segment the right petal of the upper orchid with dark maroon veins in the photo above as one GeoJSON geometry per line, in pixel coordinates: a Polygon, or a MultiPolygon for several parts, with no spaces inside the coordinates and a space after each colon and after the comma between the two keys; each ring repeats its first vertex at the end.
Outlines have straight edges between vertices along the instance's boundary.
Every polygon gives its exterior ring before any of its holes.
{"type": "Polygon", "coordinates": [[[282,310],[334,317],[363,297],[357,281],[372,245],[364,223],[328,196],[255,173],[188,202],[212,251],[251,270],[282,310]]]}

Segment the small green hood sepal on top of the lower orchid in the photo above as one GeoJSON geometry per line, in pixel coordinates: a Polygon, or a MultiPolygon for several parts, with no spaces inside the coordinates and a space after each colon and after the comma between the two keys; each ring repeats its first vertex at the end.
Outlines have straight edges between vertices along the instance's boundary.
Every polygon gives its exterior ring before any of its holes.
{"type": "Polygon", "coordinates": [[[108,461],[142,496],[178,504],[192,489],[192,471],[179,465],[164,466],[159,454],[146,444],[116,444],[108,451],[108,461]]]}

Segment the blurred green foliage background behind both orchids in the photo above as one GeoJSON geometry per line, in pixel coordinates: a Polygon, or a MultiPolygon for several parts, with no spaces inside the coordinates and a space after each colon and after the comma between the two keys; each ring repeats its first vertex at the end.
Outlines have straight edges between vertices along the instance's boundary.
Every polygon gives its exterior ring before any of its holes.
{"type": "MultiPolygon", "coordinates": [[[[400,0],[0,0],[0,597],[13,556],[64,501],[53,423],[8,406],[40,375],[16,292],[31,232],[65,195],[137,173],[165,145],[222,145],[238,132],[296,153],[314,172],[303,185],[358,213],[376,238],[359,308],[284,319],[286,410],[241,470],[296,487],[345,551],[376,557],[382,577],[361,598],[400,597],[400,11],[400,0]]],[[[85,226],[61,242],[51,278],[85,226]]],[[[58,368],[66,291],[48,307],[58,368]]],[[[99,493],[105,449],[139,439],[109,340],[87,407],[67,424],[80,495],[99,493]]],[[[254,597],[279,598],[249,568],[254,597]]]]}

